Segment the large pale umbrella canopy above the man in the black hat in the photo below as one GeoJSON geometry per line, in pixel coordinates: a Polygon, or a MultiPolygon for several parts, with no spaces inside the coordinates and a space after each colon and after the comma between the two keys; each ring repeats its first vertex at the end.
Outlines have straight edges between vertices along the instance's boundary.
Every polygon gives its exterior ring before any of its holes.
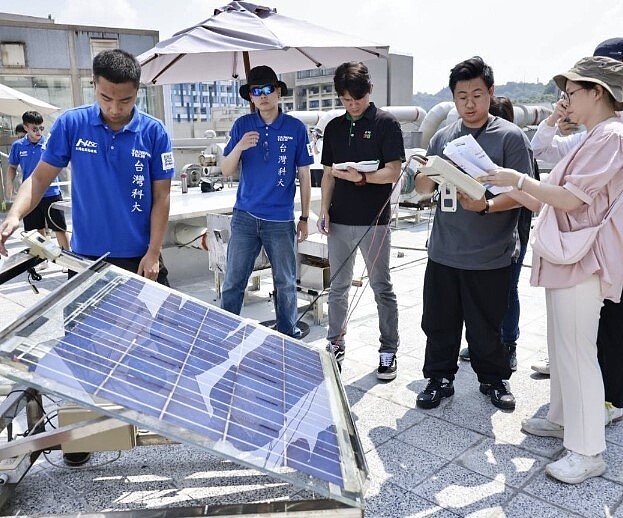
{"type": "Polygon", "coordinates": [[[230,2],[198,25],[138,56],[145,84],[246,78],[268,65],[277,74],[345,61],[387,58],[389,47],[277,14],[276,9],[230,2]]]}

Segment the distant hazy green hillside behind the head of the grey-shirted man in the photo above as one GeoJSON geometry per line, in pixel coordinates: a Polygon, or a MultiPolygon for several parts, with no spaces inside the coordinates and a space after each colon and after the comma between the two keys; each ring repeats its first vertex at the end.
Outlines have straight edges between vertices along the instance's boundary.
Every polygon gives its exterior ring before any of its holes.
{"type": "MultiPolygon", "coordinates": [[[[553,81],[542,83],[507,83],[495,86],[496,95],[505,95],[517,104],[553,103],[558,95],[558,88],[553,81]]],[[[436,94],[417,93],[413,96],[413,104],[430,110],[443,101],[451,101],[452,94],[449,88],[444,88],[436,94]]]]}

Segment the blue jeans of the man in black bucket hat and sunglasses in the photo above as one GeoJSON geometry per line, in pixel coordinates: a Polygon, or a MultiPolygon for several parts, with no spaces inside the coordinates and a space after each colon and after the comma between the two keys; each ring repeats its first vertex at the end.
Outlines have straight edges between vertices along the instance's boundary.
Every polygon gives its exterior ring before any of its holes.
{"type": "Polygon", "coordinates": [[[264,246],[273,273],[276,329],[293,336],[298,316],[295,240],[294,221],[267,221],[234,209],[221,307],[240,314],[255,259],[264,246]]]}

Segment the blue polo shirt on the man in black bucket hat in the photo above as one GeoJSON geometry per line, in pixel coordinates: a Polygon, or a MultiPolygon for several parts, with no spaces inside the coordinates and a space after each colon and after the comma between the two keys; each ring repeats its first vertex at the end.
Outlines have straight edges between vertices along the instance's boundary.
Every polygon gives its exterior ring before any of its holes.
{"type": "Polygon", "coordinates": [[[240,156],[240,181],[234,208],[270,221],[294,219],[294,195],[298,167],[314,162],[305,125],[279,110],[266,124],[258,112],[243,115],[234,122],[231,138],[223,153],[231,153],[248,131],[257,131],[257,146],[240,156]]]}

